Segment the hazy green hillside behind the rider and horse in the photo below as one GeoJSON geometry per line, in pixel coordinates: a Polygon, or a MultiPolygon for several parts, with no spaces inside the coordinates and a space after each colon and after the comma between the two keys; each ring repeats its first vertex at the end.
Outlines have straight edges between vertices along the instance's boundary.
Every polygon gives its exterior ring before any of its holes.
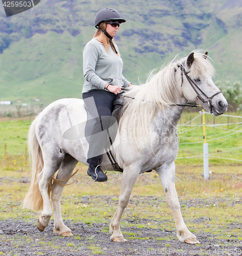
{"type": "Polygon", "coordinates": [[[242,0],[42,0],[11,17],[0,8],[0,100],[81,97],[82,50],[105,7],[127,20],[115,41],[133,83],[197,48],[212,57],[215,80],[242,80],[242,0]]]}

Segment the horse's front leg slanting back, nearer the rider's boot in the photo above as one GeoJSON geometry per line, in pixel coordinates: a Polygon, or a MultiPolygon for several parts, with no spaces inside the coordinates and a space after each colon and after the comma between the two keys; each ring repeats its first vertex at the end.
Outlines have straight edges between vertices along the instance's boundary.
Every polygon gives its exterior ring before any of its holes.
{"type": "Polygon", "coordinates": [[[120,221],[125,207],[128,205],[131,191],[134,187],[137,177],[139,176],[139,168],[137,166],[128,166],[123,170],[121,183],[121,192],[119,196],[118,209],[109,225],[109,232],[113,231],[111,240],[114,242],[125,242],[123,234],[120,231],[120,221]]]}

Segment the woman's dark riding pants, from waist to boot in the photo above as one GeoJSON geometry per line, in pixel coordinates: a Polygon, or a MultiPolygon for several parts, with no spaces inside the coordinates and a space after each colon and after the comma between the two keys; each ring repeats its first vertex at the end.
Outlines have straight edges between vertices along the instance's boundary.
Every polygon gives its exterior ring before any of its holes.
{"type": "Polygon", "coordinates": [[[89,131],[89,151],[87,153],[87,163],[97,166],[107,142],[107,129],[111,123],[112,104],[119,97],[104,90],[91,90],[82,94],[86,108],[91,112],[95,121],[92,127],[87,127],[89,131]]]}

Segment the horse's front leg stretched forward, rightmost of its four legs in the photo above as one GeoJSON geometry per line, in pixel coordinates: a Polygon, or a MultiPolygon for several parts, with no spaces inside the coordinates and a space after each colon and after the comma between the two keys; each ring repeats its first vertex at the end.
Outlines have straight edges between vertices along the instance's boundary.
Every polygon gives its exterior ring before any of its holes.
{"type": "Polygon", "coordinates": [[[169,207],[174,215],[178,239],[188,244],[199,244],[200,242],[197,241],[194,234],[187,229],[187,226],[182,218],[177,190],[175,190],[175,163],[173,162],[170,166],[161,167],[157,170],[157,173],[160,176],[169,207]]]}

